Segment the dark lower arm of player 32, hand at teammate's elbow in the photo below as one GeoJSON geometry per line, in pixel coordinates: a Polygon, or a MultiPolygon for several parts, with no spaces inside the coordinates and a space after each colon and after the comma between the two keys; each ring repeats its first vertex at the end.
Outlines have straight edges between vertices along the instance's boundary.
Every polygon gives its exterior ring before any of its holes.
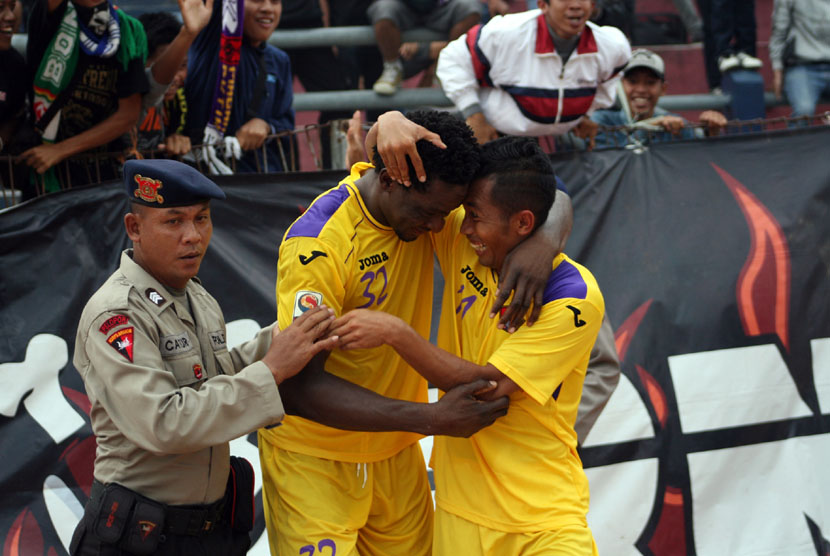
{"type": "Polygon", "coordinates": [[[453,389],[436,403],[406,402],[327,373],[325,357],[318,355],[302,372],[280,384],[287,414],[344,430],[467,437],[507,413],[506,397],[493,401],[476,398],[493,389],[483,379],[453,389]]]}

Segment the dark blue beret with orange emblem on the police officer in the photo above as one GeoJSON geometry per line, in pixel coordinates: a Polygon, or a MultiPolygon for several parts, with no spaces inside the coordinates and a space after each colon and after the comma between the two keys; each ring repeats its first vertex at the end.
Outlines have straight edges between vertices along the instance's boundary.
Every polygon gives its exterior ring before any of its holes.
{"type": "Polygon", "coordinates": [[[124,163],[124,187],[134,203],[156,208],[225,198],[213,181],[176,160],[128,160],[124,163]]]}

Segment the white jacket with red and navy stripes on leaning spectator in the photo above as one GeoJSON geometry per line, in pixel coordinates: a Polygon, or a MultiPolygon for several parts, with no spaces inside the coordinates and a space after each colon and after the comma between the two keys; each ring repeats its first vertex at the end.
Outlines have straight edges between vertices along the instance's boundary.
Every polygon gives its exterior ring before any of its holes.
{"type": "Polygon", "coordinates": [[[511,135],[561,135],[614,102],[631,47],[614,27],[591,22],[567,63],[539,10],[494,17],[451,42],[438,58],[444,93],[464,111],[478,103],[511,135]]]}

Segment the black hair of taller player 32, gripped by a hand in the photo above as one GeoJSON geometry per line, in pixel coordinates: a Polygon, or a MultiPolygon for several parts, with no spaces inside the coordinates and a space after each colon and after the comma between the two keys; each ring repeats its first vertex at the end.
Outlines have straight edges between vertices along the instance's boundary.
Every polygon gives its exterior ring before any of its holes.
{"type": "MultiPolygon", "coordinates": [[[[407,160],[412,187],[418,191],[426,191],[433,178],[452,185],[469,184],[480,165],[478,142],[469,126],[449,112],[438,110],[415,110],[409,112],[406,117],[440,135],[447,146],[446,149],[439,149],[424,139],[416,143],[418,154],[424,163],[427,181],[421,183],[418,180],[412,162],[407,160]]],[[[372,161],[378,172],[385,168],[377,148],[372,154],[372,161]]]]}

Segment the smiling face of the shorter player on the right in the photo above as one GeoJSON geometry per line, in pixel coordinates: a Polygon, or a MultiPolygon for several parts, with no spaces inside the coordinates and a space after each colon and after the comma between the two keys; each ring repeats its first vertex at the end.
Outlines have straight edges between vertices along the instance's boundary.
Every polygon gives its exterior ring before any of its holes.
{"type": "Polygon", "coordinates": [[[464,222],[461,233],[467,236],[481,264],[501,268],[507,253],[522,237],[514,232],[511,219],[490,200],[492,178],[480,178],[470,184],[464,200],[464,222]]]}

